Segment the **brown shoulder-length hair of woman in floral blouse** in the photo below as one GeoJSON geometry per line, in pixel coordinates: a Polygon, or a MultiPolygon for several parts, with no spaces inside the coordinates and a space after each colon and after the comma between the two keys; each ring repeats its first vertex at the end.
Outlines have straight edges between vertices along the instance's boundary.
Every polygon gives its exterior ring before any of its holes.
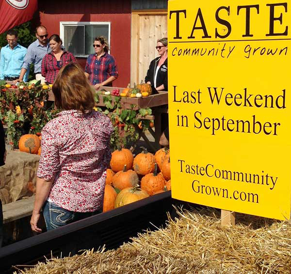
{"type": "Polygon", "coordinates": [[[77,109],[82,113],[91,112],[94,107],[94,95],[81,66],[68,63],[63,66],[52,85],[57,108],[77,109]]]}

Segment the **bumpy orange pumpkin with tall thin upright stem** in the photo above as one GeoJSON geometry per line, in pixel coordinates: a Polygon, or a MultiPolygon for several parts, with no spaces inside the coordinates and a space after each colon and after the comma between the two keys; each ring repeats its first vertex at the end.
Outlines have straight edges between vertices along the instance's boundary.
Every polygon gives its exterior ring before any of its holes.
{"type": "Polygon", "coordinates": [[[146,174],[141,180],[141,189],[146,190],[149,195],[154,195],[157,191],[162,190],[166,184],[161,174],[157,174],[157,164],[155,164],[154,173],[146,174]]]}

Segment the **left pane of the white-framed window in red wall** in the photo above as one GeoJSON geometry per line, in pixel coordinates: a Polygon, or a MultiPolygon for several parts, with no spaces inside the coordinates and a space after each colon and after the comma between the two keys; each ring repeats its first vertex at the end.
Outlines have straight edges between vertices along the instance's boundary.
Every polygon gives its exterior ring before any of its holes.
{"type": "Polygon", "coordinates": [[[65,49],[74,55],[84,55],[84,26],[65,26],[65,49]]]}

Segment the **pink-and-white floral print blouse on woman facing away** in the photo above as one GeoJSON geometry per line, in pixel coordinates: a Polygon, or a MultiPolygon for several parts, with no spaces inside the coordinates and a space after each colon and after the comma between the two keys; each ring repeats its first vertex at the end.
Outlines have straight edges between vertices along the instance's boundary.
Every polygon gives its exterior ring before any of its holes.
{"type": "Polygon", "coordinates": [[[37,177],[53,179],[48,201],[74,212],[102,208],[112,132],[97,111],[65,110],[46,124],[37,177]]]}

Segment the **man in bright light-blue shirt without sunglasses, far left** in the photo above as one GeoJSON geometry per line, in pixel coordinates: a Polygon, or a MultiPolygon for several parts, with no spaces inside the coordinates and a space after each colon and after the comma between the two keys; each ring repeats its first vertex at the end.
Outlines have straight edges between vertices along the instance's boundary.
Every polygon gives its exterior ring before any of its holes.
{"type": "MultiPolygon", "coordinates": [[[[27,49],[17,44],[18,33],[16,30],[8,30],[6,39],[7,46],[3,46],[0,51],[0,79],[13,81],[20,75],[23,60],[27,49]]],[[[29,71],[28,71],[29,72],[29,71]]],[[[27,80],[28,73],[24,75],[27,80]]]]}

